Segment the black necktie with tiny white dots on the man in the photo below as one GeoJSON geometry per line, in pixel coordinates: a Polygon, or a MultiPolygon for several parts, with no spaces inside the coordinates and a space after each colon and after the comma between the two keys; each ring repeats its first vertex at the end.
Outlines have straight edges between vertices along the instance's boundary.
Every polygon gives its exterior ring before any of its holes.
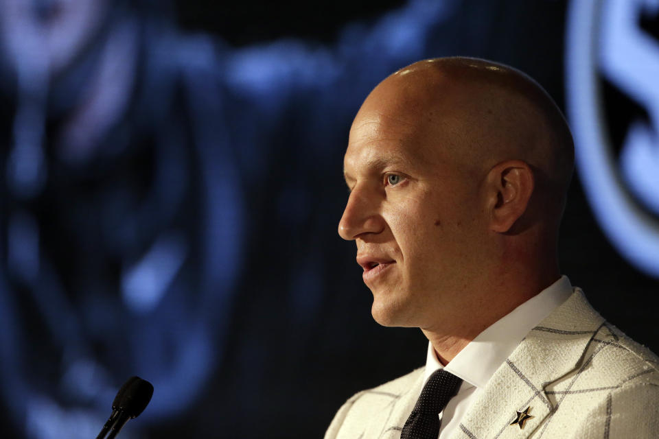
{"type": "Polygon", "coordinates": [[[437,439],[441,425],[439,413],[458,392],[461,383],[461,379],[446,370],[432,372],[407,418],[400,439],[437,439]]]}

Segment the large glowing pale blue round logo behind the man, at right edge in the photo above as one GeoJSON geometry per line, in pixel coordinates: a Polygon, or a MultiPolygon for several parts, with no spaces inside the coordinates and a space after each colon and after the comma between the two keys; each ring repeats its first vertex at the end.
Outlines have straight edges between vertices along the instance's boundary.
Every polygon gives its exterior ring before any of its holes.
{"type": "Polygon", "coordinates": [[[640,27],[659,0],[573,0],[566,86],[577,167],[597,220],[616,249],[659,277],[659,41],[640,27]],[[642,107],[614,145],[601,78],[642,107]],[[619,154],[615,150],[620,147],[619,154]]]}

